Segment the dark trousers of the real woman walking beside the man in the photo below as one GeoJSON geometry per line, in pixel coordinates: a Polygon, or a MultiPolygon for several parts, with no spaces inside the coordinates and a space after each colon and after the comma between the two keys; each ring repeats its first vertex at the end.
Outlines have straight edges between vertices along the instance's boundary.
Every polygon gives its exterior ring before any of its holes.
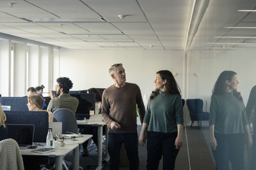
{"type": "Polygon", "coordinates": [[[162,133],[149,132],[147,140],[147,169],[157,170],[159,161],[163,155],[163,170],[174,170],[175,159],[179,150],[175,149],[174,143],[177,132],[162,133]]]}

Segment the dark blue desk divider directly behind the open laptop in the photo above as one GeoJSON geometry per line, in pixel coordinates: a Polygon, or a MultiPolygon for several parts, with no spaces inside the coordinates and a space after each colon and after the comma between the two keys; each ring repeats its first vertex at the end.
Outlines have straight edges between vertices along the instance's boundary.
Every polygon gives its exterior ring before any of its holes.
{"type": "Polygon", "coordinates": [[[49,127],[47,111],[4,111],[6,124],[35,125],[34,142],[45,143],[49,127]]]}

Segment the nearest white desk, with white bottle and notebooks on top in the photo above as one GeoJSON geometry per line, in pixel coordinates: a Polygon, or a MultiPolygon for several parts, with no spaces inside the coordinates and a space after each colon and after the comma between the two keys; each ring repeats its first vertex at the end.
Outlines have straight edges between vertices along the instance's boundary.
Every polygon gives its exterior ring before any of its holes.
{"type": "Polygon", "coordinates": [[[79,169],[79,144],[84,143],[88,139],[92,138],[92,135],[85,134],[81,138],[76,138],[77,141],[71,141],[71,139],[65,139],[64,143],[65,146],[59,147],[54,152],[49,153],[33,153],[31,150],[20,150],[22,155],[40,155],[40,156],[55,156],[55,169],[62,170],[62,160],[68,152],[73,150],[73,157],[72,157],[72,169],[79,169]]]}

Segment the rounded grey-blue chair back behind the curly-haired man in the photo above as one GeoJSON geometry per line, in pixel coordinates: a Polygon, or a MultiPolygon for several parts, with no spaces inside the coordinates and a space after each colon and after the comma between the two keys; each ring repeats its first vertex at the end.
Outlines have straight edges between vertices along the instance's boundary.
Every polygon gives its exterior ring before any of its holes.
{"type": "Polygon", "coordinates": [[[53,113],[53,117],[58,121],[62,122],[62,133],[67,132],[77,133],[77,122],[74,113],[66,108],[60,108],[53,113]]]}

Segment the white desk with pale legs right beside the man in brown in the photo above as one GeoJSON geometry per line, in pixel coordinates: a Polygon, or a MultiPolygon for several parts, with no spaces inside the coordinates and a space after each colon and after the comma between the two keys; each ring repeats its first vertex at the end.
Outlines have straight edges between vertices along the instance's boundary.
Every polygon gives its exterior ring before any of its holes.
{"type": "MultiPolygon", "coordinates": [[[[106,125],[104,122],[88,122],[88,120],[77,120],[78,127],[84,126],[97,126],[98,127],[98,167],[96,170],[102,169],[102,127],[106,125]]],[[[104,159],[106,162],[109,161],[108,154],[108,128],[106,128],[106,158],[104,159]]]]}

